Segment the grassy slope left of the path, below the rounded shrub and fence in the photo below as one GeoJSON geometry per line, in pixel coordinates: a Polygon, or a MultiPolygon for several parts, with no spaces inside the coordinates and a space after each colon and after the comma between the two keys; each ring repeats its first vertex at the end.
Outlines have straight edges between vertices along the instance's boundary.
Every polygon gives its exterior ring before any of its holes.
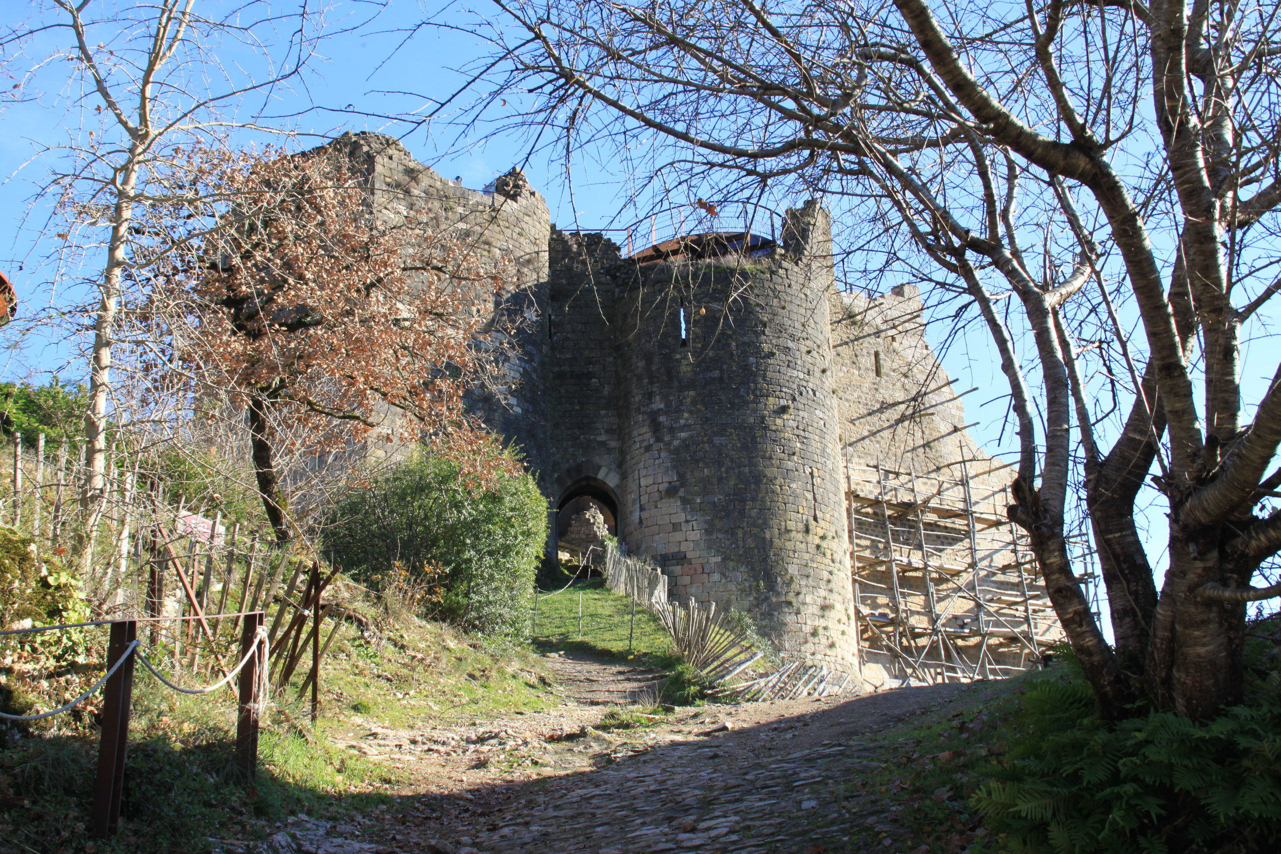
{"type": "Polygon", "coordinates": [[[537,658],[445,626],[415,624],[375,647],[347,627],[330,648],[315,730],[292,698],[270,711],[261,772],[246,789],[231,766],[231,697],[182,697],[136,680],[124,827],[86,849],[97,736],[88,729],[22,739],[0,749],[0,854],[206,850],[205,837],[259,839],[286,814],[341,817],[389,800],[396,771],[334,745],[354,717],[412,726],[550,705],[537,658]]]}

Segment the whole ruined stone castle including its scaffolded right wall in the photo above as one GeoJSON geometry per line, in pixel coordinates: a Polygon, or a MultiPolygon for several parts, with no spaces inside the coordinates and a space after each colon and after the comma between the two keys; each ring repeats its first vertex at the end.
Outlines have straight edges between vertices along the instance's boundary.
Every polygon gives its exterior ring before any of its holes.
{"type": "Polygon", "coordinates": [[[784,656],[872,685],[1002,675],[1059,638],[1004,517],[1011,470],[967,435],[916,289],[840,293],[816,202],[774,238],[625,254],[552,225],[518,170],[477,192],[389,137],[330,147],[379,216],[512,265],[494,311],[521,323],[470,402],[537,475],[551,560],[591,508],[673,600],[747,612],[784,656]]]}

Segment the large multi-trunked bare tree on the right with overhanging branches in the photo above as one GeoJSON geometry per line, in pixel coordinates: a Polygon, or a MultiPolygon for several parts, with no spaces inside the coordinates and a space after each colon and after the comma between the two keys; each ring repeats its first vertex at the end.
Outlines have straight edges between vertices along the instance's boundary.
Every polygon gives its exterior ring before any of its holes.
{"type": "Polygon", "coordinates": [[[1240,356],[1281,289],[1278,6],[496,1],[465,120],[603,147],[656,206],[824,196],[848,269],[930,286],[990,332],[1020,440],[1009,517],[1103,712],[1241,695],[1246,603],[1281,593],[1250,586],[1281,548],[1281,373],[1246,420],[1240,356]],[[1154,466],[1159,592],[1135,521],[1154,466]],[[1114,644],[1065,539],[1082,504],[1114,644]]]}

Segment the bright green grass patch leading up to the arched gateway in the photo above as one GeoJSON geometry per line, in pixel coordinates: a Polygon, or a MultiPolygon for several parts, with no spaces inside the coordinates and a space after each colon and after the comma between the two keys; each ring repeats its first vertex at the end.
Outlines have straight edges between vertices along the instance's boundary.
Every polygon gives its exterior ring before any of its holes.
{"type": "Polygon", "coordinates": [[[576,649],[607,658],[661,657],[671,652],[671,638],[662,624],[638,606],[629,653],[630,626],[632,599],[605,589],[603,579],[589,579],[559,593],[539,593],[534,643],[542,649],[576,649]]]}

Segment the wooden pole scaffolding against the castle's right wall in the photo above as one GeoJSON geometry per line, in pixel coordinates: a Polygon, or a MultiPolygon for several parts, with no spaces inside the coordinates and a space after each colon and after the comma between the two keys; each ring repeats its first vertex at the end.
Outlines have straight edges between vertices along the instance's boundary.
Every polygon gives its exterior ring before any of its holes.
{"type": "Polygon", "coordinates": [[[1004,469],[962,460],[918,475],[847,460],[866,680],[1008,676],[1039,667],[1062,638],[1035,561],[1006,519],[1004,469]]]}

